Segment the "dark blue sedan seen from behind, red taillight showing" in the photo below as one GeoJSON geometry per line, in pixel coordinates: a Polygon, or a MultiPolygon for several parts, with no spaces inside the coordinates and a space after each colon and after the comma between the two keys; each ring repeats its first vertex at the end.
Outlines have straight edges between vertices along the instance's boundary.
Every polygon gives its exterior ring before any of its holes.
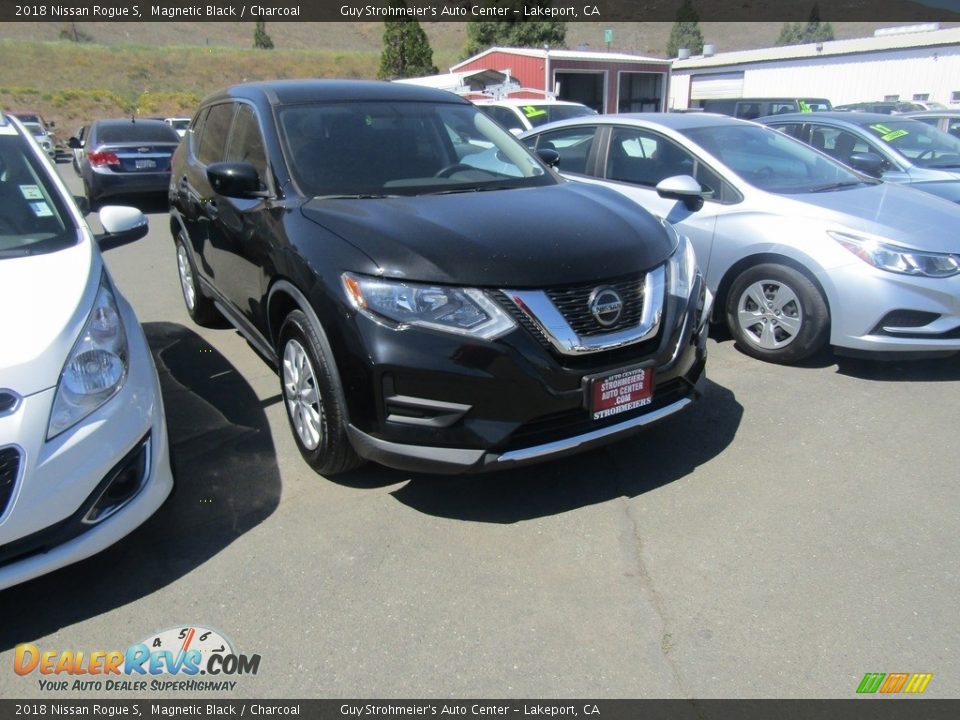
{"type": "Polygon", "coordinates": [[[95,120],[87,136],[70,138],[83,149],[80,177],[92,209],[103,198],[166,193],[170,157],[180,143],[177,131],[162,120],[95,120]]]}

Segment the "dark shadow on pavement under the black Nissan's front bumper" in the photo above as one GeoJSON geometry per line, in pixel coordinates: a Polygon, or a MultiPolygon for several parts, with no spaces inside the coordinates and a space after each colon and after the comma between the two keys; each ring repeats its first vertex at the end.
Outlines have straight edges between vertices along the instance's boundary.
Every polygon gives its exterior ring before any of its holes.
{"type": "Polygon", "coordinates": [[[706,382],[704,397],[679,415],[597,450],[540,465],[480,475],[410,475],[377,465],[333,478],[359,488],[409,480],[393,491],[428,515],[515,523],[616,497],[636,497],[692,473],[733,442],[743,407],[706,382]]]}

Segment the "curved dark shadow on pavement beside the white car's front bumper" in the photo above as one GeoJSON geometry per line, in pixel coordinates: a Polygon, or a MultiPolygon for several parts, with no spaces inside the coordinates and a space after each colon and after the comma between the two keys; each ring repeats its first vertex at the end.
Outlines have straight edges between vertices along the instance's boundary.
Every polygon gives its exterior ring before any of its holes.
{"type": "Polygon", "coordinates": [[[243,377],[191,330],[147,323],[176,488],[116,545],[0,593],[0,650],[144,597],[269,517],[280,473],[267,418],[243,377]]]}

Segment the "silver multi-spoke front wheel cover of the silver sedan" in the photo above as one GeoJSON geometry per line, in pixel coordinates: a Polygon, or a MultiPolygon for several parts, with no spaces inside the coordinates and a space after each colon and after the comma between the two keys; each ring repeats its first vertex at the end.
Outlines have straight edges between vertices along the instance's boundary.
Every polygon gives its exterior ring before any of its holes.
{"type": "Polygon", "coordinates": [[[737,322],[751,342],[764,350],[779,350],[800,333],[803,310],[788,285],[778,280],[760,280],[740,294],[737,322]]]}

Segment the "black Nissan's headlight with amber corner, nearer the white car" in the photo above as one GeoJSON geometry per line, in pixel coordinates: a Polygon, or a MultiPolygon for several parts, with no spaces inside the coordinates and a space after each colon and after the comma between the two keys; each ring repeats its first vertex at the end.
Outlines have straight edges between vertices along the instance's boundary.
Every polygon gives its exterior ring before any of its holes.
{"type": "Polygon", "coordinates": [[[347,299],[358,311],[390,327],[410,326],[492,340],[516,323],[482,290],[420,285],[399,280],[341,276],[347,299]]]}

